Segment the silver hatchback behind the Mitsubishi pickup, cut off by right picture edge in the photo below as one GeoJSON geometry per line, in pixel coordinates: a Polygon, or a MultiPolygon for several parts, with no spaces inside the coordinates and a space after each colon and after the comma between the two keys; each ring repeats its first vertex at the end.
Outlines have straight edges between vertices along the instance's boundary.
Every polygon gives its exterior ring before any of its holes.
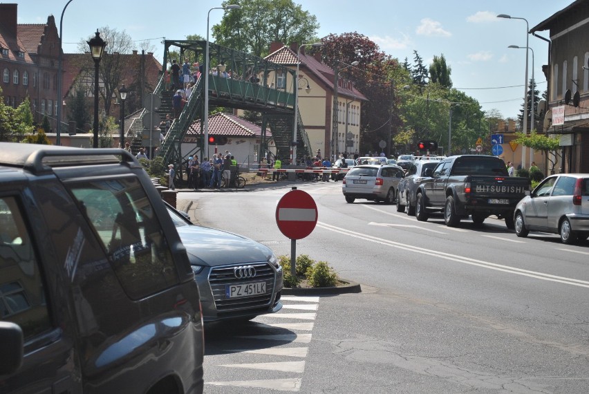
{"type": "Polygon", "coordinates": [[[552,232],[563,243],[589,237],[589,173],[559,173],[545,178],[516,205],[517,236],[552,232]]]}

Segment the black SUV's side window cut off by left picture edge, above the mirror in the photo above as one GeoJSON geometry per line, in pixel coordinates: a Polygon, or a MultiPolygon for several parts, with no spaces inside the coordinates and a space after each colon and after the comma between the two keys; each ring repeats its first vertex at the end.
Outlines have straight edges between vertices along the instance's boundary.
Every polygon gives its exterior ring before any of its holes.
{"type": "Polygon", "coordinates": [[[39,261],[14,197],[0,198],[0,320],[21,326],[25,340],[52,328],[39,261]]]}

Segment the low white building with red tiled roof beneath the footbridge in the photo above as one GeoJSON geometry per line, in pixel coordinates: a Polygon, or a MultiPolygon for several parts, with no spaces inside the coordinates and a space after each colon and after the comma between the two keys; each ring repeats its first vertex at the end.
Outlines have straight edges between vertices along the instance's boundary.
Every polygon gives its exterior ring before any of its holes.
{"type": "MultiPolygon", "coordinates": [[[[196,120],[189,127],[182,142],[183,157],[190,156],[198,148],[200,141],[200,120],[196,120]]],[[[257,155],[260,150],[262,128],[257,124],[249,122],[237,115],[228,113],[216,113],[209,118],[209,137],[224,136],[227,138],[227,144],[209,145],[209,149],[214,152],[225,152],[228,150],[239,165],[250,165],[257,162],[257,155]]],[[[271,138],[272,133],[266,130],[266,138],[271,138]]],[[[269,142],[269,149],[276,153],[274,143],[269,142]]]]}

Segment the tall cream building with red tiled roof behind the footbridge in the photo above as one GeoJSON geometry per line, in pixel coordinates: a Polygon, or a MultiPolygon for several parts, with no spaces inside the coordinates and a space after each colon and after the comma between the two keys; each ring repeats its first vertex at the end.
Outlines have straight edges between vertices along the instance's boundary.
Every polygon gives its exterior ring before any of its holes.
{"type": "MultiPolygon", "coordinates": [[[[270,55],[266,60],[277,64],[284,64],[289,68],[297,68],[297,44],[285,46],[272,43],[270,55]]],[[[359,149],[360,142],[360,113],[362,102],[366,101],[351,81],[338,78],[337,84],[337,135],[333,139],[333,97],[335,95],[335,72],[317,56],[307,55],[305,47],[300,51],[299,63],[299,113],[309,137],[312,152],[320,150],[323,156],[333,153],[354,153],[359,149]],[[305,87],[310,91],[306,93],[305,87]]],[[[271,79],[269,77],[269,79],[271,79]]],[[[288,75],[277,75],[278,88],[292,86],[293,81],[288,75]]]]}

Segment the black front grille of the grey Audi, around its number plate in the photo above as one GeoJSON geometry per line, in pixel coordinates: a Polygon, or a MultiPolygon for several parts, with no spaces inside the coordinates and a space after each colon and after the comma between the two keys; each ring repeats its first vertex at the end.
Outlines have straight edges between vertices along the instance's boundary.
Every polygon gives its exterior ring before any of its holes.
{"type": "Polygon", "coordinates": [[[250,263],[215,267],[209,274],[209,285],[211,286],[215,306],[220,312],[270,306],[270,303],[272,303],[272,294],[274,294],[274,283],[276,283],[276,271],[272,269],[269,263],[250,263]],[[247,279],[238,279],[235,274],[235,268],[238,267],[253,267],[256,276],[247,279]],[[265,294],[232,299],[225,297],[226,285],[261,281],[266,283],[265,294]]]}

